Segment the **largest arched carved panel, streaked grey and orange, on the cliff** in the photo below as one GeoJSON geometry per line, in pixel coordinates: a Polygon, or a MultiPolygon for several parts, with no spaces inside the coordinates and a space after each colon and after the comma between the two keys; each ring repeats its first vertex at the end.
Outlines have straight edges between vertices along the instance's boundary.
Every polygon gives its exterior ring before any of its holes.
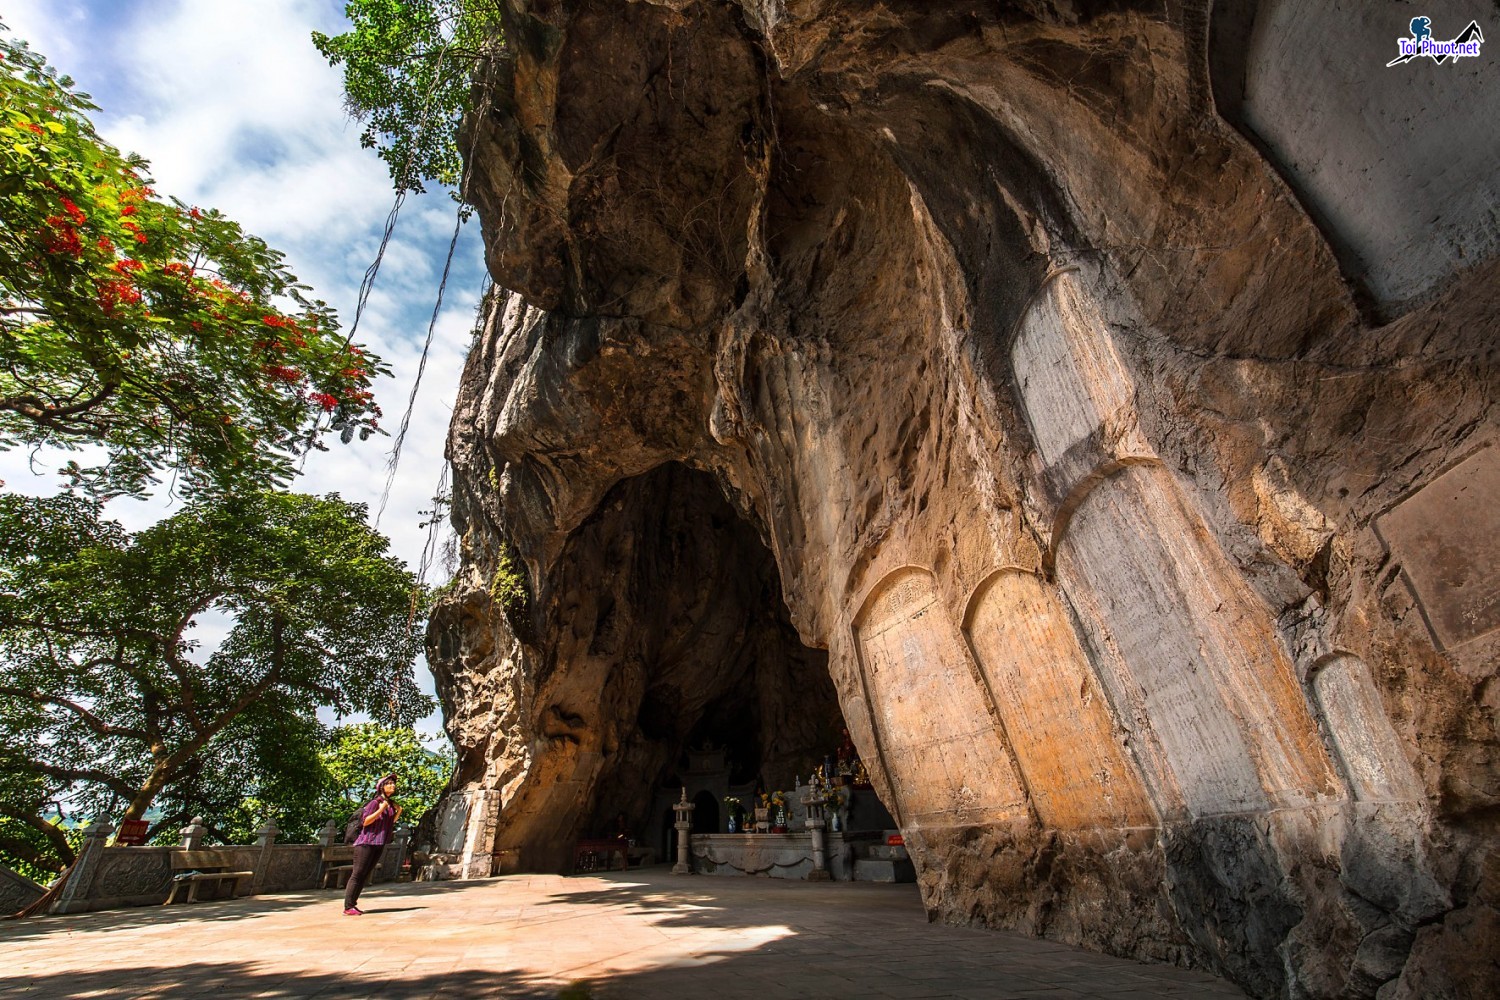
{"type": "Polygon", "coordinates": [[[1266,609],[1160,466],[1096,489],[1059,550],[1059,576],[1118,652],[1196,816],[1306,804],[1330,775],[1266,609]]]}

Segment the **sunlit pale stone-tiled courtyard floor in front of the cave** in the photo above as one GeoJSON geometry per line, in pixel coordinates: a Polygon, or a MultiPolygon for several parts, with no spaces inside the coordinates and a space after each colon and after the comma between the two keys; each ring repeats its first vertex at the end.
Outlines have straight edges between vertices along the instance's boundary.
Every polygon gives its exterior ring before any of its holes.
{"type": "Polygon", "coordinates": [[[1244,997],[1200,972],[927,922],[910,885],[674,877],[375,886],[0,922],[0,997],[1244,997]]]}

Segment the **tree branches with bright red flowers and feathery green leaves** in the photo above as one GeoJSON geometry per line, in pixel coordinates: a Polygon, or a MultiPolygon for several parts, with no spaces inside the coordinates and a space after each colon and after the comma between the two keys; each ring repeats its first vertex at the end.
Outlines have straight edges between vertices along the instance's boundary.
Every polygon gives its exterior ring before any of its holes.
{"type": "Polygon", "coordinates": [[[102,445],[74,483],[140,495],[285,483],[328,430],[376,430],[386,369],[276,250],[158,198],[24,42],[0,39],[0,448],[102,445]]]}

